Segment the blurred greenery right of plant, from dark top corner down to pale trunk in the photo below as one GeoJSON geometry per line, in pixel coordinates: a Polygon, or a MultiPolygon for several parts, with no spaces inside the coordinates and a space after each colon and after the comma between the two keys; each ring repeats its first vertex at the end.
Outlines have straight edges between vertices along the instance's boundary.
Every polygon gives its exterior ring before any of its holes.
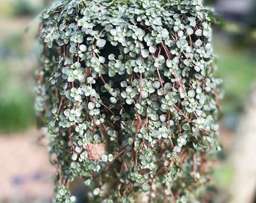
{"type": "Polygon", "coordinates": [[[206,0],[224,19],[216,29],[214,44],[219,56],[219,74],[224,78],[223,124],[235,129],[242,105],[256,79],[256,2],[251,0],[206,0]]]}

